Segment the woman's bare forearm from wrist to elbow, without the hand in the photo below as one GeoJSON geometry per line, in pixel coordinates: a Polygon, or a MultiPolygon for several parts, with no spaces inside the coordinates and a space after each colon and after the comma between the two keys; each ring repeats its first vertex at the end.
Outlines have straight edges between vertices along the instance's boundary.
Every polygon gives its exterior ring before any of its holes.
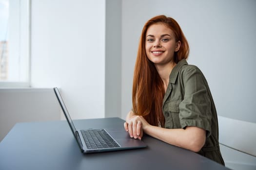
{"type": "Polygon", "coordinates": [[[197,127],[165,129],[149,125],[143,131],[149,136],[193,152],[198,152],[205,143],[205,130],[197,127]]]}

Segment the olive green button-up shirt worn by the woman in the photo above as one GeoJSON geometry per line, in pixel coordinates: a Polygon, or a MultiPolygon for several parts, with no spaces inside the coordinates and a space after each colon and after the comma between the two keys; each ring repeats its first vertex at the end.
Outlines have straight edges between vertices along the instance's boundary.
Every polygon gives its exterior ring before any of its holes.
{"type": "Polygon", "coordinates": [[[217,112],[209,86],[200,69],[188,65],[185,59],[170,74],[162,111],[165,128],[204,129],[206,142],[198,153],[224,165],[219,151],[217,112]]]}

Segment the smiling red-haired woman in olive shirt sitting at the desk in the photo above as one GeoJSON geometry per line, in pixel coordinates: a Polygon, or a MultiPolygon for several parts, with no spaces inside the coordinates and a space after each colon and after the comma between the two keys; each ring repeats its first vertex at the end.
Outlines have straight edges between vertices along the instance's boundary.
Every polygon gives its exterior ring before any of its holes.
{"type": "Polygon", "coordinates": [[[186,59],[188,42],[171,17],[144,25],[133,80],[133,109],[124,128],[191,150],[222,165],[215,104],[202,72],[186,59]]]}

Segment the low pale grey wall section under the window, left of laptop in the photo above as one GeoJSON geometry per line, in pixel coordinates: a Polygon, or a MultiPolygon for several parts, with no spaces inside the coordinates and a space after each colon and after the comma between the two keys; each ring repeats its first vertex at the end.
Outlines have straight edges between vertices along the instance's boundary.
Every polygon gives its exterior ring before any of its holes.
{"type": "Polygon", "coordinates": [[[60,119],[51,89],[0,89],[0,141],[18,122],[60,119]]]}

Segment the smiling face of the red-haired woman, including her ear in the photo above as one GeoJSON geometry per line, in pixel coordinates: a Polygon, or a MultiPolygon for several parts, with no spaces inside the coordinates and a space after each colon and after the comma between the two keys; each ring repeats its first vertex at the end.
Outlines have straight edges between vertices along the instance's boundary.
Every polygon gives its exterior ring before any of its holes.
{"type": "Polygon", "coordinates": [[[174,53],[179,50],[173,31],[162,23],[151,25],[146,32],[145,49],[148,59],[158,66],[173,64],[174,53]]]}

